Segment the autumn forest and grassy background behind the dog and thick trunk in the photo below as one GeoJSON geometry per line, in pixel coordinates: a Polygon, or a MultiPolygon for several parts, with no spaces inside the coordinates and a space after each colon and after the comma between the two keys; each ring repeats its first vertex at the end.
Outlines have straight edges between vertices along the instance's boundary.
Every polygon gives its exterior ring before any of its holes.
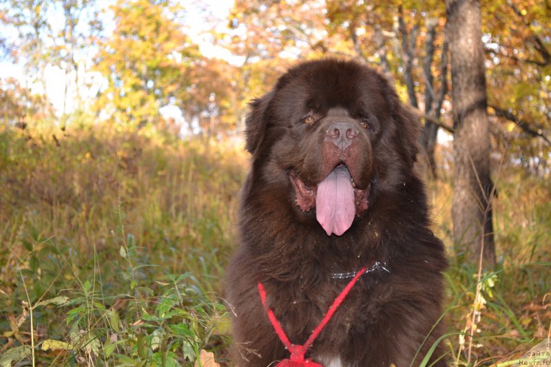
{"type": "Polygon", "coordinates": [[[208,365],[201,350],[229,365],[247,103],[324,56],[375,67],[419,116],[451,262],[450,361],[512,366],[549,337],[549,0],[479,6],[495,184],[484,266],[454,234],[446,3],[0,4],[1,366],[208,365]]]}

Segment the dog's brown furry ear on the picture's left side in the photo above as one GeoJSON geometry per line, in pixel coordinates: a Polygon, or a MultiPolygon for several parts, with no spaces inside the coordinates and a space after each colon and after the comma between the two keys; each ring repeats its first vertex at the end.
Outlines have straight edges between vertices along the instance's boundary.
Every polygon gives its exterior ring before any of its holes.
{"type": "Polygon", "coordinates": [[[249,103],[249,114],[245,119],[245,148],[250,154],[255,154],[264,139],[266,132],[266,110],[273,96],[273,92],[261,98],[255,98],[249,103]]]}

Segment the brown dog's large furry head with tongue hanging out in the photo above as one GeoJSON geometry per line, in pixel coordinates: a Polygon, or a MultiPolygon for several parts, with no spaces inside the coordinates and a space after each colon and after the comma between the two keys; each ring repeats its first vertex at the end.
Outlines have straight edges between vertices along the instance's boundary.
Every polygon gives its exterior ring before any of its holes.
{"type": "MultiPolygon", "coordinates": [[[[368,210],[373,185],[413,168],[418,124],[388,82],[351,61],[306,62],[251,103],[253,175],[287,185],[298,215],[342,235],[368,210]]],[[[390,184],[390,185],[388,185],[390,184]]]]}

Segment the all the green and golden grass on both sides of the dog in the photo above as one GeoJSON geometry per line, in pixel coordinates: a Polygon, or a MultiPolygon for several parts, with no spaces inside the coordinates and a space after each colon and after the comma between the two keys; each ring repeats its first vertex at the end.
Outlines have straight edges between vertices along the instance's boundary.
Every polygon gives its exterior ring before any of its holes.
{"type": "MultiPolygon", "coordinates": [[[[0,366],[193,366],[201,349],[228,365],[242,146],[69,126],[0,128],[0,366]]],[[[499,266],[479,286],[450,245],[448,173],[428,187],[452,262],[442,342],[459,366],[505,366],[550,333],[551,187],[506,172],[499,266]]]]}

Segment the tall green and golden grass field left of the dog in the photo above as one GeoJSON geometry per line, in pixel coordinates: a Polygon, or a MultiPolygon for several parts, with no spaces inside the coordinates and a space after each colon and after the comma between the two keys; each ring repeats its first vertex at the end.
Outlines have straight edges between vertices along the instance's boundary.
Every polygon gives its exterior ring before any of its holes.
{"type": "Polygon", "coordinates": [[[171,365],[218,352],[242,147],[50,128],[0,134],[0,361],[171,365]]]}

